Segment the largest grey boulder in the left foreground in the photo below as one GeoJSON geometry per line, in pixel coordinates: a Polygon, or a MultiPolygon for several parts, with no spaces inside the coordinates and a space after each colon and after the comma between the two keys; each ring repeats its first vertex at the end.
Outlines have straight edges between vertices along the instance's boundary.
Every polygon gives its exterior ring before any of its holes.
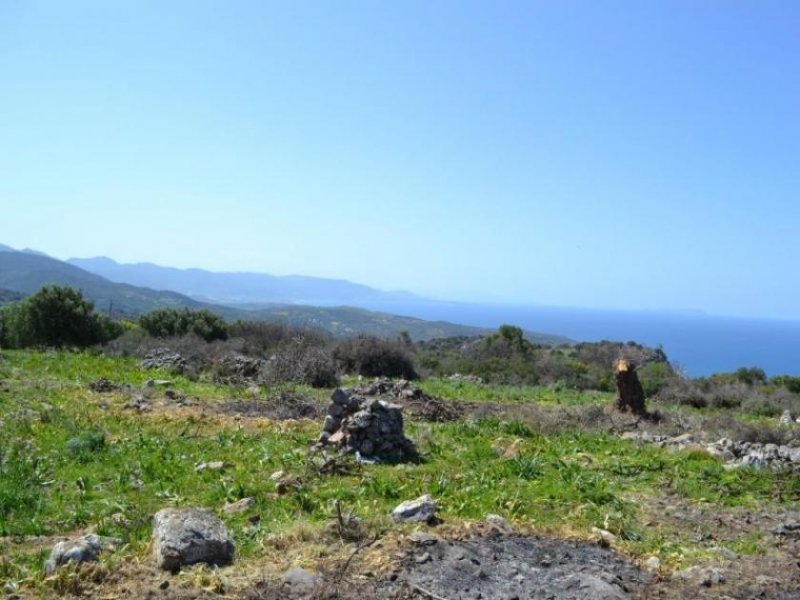
{"type": "Polygon", "coordinates": [[[165,508],[153,517],[156,563],[167,571],[184,565],[226,565],[235,546],[225,525],[205,508],[165,508]]]}

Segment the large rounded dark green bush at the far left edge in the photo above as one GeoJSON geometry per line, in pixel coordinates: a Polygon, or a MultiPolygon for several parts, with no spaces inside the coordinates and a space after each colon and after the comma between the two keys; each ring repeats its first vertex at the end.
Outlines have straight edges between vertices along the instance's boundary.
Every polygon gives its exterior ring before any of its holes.
{"type": "Polygon", "coordinates": [[[122,327],[94,312],[80,290],[46,285],[33,296],[3,310],[0,338],[8,346],[86,347],[122,334],[122,327]]]}

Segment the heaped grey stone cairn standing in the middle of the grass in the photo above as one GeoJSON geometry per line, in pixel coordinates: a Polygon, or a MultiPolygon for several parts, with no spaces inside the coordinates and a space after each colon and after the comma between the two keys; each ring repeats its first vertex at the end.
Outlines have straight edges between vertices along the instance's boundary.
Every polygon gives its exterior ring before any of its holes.
{"type": "Polygon", "coordinates": [[[397,463],[417,457],[414,442],[403,432],[400,406],[341,388],[331,395],[319,441],[365,461],[397,463]]]}

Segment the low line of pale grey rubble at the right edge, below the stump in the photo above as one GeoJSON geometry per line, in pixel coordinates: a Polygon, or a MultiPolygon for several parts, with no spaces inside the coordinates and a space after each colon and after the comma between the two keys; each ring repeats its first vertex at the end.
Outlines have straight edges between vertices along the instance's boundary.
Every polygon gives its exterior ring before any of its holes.
{"type": "Polygon", "coordinates": [[[629,432],[622,435],[625,439],[647,442],[665,448],[700,448],[726,463],[730,468],[755,467],[800,467],[800,448],[778,444],[759,444],[754,442],[734,442],[722,438],[710,444],[703,443],[691,433],[669,437],[653,435],[646,431],[629,432]]]}

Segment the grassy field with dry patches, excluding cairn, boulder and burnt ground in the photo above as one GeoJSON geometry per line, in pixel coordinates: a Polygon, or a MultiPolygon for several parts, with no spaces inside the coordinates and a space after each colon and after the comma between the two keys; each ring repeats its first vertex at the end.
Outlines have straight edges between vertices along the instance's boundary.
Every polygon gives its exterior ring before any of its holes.
{"type": "Polygon", "coordinates": [[[610,544],[637,569],[650,560],[633,596],[800,593],[797,540],[774,533],[800,517],[796,473],[729,469],[697,448],[619,435],[772,435],[774,419],[726,421],[711,409],[672,406],[658,407],[661,421],[649,424],[611,414],[612,395],[600,392],[449,380],[420,387],[458,418],[407,417],[420,460],[363,465],[310,451],[331,390],[190,381],[92,353],[4,351],[0,586],[9,597],[267,598],[280,597],[283,573],[300,566],[322,574],[319,597],[347,597],[344,589],[425,597],[380,587],[402,570],[409,535],[424,529],[461,540],[481,534],[493,513],[518,535],[610,544]],[[103,377],[122,387],[92,391],[103,377]],[[144,404],[134,402],[138,394],[144,404]],[[222,467],[208,468],[215,461],[222,467]],[[392,522],[394,506],[422,494],[438,503],[437,527],[392,522]],[[242,498],[255,503],[221,510],[242,498]],[[159,572],[151,521],[169,506],[215,510],[235,539],[235,563],[159,572]],[[87,531],[123,545],[98,563],[45,576],[52,545],[87,531]],[[698,584],[692,567],[724,577],[698,584]]]}

